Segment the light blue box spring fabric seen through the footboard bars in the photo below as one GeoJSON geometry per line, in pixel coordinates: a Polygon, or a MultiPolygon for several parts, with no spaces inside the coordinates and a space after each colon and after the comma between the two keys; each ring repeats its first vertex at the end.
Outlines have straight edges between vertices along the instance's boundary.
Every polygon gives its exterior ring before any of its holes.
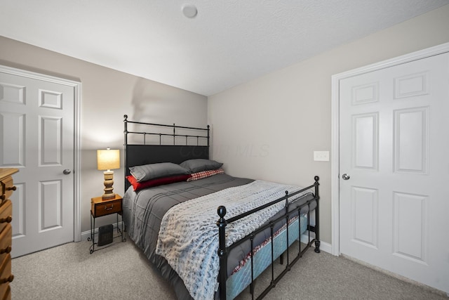
{"type": "MultiPolygon", "coordinates": [[[[295,240],[300,239],[300,235],[307,230],[307,214],[300,216],[300,226],[298,226],[298,219],[291,222],[288,226],[288,246],[293,244],[295,240]],[[301,230],[301,233],[300,233],[301,230]]],[[[274,237],[273,242],[273,260],[279,258],[287,247],[287,230],[283,228],[281,232],[274,237]]],[[[272,264],[272,241],[253,255],[253,273],[254,278],[257,278],[268,266],[272,264]]],[[[229,276],[226,282],[226,299],[234,299],[239,295],[243,289],[246,289],[251,283],[251,259],[241,267],[239,271],[229,276]]]]}

